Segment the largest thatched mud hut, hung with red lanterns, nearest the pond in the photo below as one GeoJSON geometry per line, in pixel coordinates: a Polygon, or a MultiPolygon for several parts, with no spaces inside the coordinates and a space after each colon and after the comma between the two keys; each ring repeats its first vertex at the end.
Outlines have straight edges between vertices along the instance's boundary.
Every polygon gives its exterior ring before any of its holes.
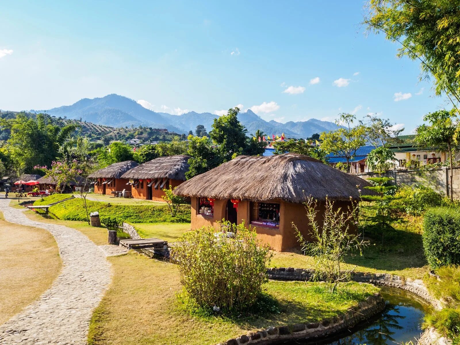
{"type": "MultiPolygon", "coordinates": [[[[225,219],[251,224],[259,239],[276,251],[299,247],[292,223],[308,241],[311,232],[303,203],[309,196],[323,208],[326,196],[347,209],[370,185],[314,158],[297,155],[238,156],[181,184],[175,193],[191,198],[191,229],[219,227],[225,219]]],[[[321,211],[319,212],[321,214],[321,211]]]]}

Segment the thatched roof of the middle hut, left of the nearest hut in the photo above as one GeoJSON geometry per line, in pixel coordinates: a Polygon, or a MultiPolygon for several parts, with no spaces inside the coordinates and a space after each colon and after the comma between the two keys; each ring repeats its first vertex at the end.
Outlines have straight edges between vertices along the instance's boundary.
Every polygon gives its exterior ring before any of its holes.
{"type": "Polygon", "coordinates": [[[187,155],[158,157],[131,169],[122,177],[133,179],[170,178],[185,181],[185,173],[190,168],[189,159],[190,157],[187,155]]]}

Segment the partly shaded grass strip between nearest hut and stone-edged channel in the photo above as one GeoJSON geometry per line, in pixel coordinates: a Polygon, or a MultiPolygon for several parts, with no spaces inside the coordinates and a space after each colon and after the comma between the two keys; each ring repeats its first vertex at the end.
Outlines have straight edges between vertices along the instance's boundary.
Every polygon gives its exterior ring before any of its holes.
{"type": "MultiPolygon", "coordinates": [[[[364,249],[363,255],[352,253],[345,257],[344,268],[356,267],[355,271],[358,272],[423,278],[428,265],[423,253],[421,222],[422,217],[406,217],[405,222],[394,224],[394,232],[385,234],[386,243],[383,251],[380,239],[368,237],[370,245],[364,249]]],[[[270,266],[312,268],[314,261],[310,256],[302,255],[300,251],[275,253],[270,266]]]]}

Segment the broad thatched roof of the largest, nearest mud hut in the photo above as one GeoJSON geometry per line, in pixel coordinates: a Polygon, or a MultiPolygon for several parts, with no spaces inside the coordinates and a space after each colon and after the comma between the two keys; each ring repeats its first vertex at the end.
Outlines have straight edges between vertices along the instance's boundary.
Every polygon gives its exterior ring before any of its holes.
{"type": "Polygon", "coordinates": [[[269,201],[281,199],[301,203],[309,196],[318,200],[359,198],[357,184],[370,184],[306,155],[269,157],[238,156],[219,167],[180,184],[175,193],[189,197],[269,201]]]}

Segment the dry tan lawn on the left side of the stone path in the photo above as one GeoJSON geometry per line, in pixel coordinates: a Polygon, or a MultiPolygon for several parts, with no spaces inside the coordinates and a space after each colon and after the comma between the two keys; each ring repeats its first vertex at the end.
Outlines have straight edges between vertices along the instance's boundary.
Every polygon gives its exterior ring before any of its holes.
{"type": "Polygon", "coordinates": [[[56,241],[46,230],[12,224],[2,217],[0,238],[2,324],[51,286],[62,262],[56,241]]]}

